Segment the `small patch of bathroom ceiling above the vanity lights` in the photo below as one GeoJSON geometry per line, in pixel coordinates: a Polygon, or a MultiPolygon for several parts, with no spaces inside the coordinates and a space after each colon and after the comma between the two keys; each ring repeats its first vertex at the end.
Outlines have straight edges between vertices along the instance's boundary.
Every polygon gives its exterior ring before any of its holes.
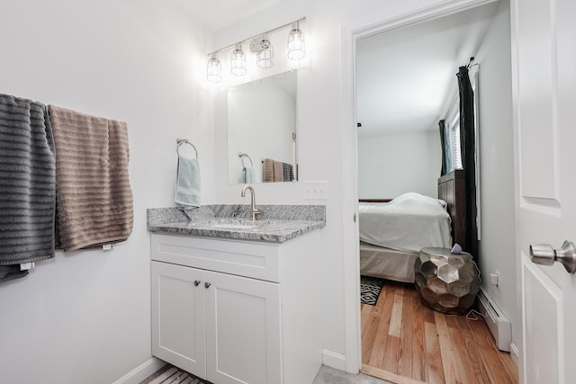
{"type": "Polygon", "coordinates": [[[219,31],[286,0],[175,0],[211,31],[219,31]]]}

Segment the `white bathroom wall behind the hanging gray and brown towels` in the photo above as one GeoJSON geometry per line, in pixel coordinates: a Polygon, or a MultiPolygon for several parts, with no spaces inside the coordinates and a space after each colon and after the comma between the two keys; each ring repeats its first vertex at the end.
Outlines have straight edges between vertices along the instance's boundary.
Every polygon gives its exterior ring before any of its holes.
{"type": "Polygon", "coordinates": [[[176,137],[213,194],[202,34],[166,1],[0,4],[0,92],[126,121],[135,210],[112,252],[57,253],[0,283],[3,383],[111,383],[151,358],[146,209],[173,205],[176,137]]]}

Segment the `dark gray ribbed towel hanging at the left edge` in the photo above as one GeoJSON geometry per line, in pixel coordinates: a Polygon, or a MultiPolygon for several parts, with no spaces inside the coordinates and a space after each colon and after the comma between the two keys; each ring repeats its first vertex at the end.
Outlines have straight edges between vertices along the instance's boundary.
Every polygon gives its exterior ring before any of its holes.
{"type": "Polygon", "coordinates": [[[56,169],[46,106],[0,94],[0,281],[54,257],[56,169]]]}

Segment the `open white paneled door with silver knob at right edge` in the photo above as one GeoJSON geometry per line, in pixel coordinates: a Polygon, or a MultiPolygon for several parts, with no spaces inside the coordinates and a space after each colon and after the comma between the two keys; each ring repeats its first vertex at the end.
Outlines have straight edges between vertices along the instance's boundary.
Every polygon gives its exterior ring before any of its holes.
{"type": "Polygon", "coordinates": [[[524,383],[576,382],[576,275],[529,257],[576,242],[574,20],[574,0],[512,0],[524,383]]]}

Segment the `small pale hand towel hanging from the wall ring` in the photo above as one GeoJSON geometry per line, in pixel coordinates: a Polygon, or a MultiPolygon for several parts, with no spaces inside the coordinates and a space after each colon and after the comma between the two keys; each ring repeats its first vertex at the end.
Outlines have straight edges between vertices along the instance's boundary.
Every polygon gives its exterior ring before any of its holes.
{"type": "Polygon", "coordinates": [[[175,202],[185,207],[200,207],[200,166],[195,158],[178,156],[175,202]]]}

